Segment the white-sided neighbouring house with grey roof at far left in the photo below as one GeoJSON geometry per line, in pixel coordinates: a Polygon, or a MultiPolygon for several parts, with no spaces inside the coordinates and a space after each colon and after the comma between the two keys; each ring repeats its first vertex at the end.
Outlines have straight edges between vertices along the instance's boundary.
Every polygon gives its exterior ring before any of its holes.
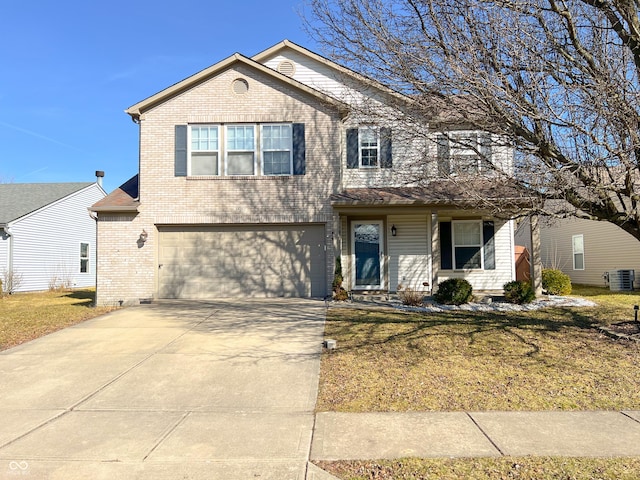
{"type": "Polygon", "coordinates": [[[96,284],[98,183],[0,184],[0,280],[16,292],[96,284]]]}

